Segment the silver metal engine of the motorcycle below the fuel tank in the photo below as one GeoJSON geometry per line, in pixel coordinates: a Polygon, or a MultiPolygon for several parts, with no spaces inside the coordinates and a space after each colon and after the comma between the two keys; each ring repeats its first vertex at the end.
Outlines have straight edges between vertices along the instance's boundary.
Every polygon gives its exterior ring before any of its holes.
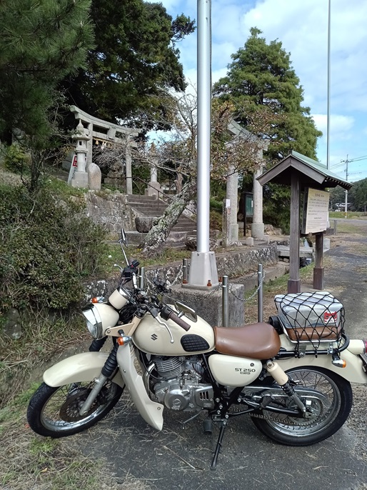
{"type": "Polygon", "coordinates": [[[150,383],[156,401],[176,411],[213,408],[213,387],[200,383],[203,366],[196,356],[152,356],[151,361],[158,375],[150,383]]]}

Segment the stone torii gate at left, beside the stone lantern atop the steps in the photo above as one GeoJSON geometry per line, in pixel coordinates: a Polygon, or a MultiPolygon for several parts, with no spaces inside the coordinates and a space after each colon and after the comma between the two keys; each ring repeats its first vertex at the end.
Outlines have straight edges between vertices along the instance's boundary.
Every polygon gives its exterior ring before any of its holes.
{"type": "Polygon", "coordinates": [[[119,142],[126,139],[126,156],[125,156],[125,169],[126,169],[126,194],[133,194],[133,182],[131,173],[131,147],[136,146],[134,137],[139,136],[141,129],[127,128],[119,126],[119,124],[113,124],[103,119],[91,116],[82,111],[76,106],[70,106],[70,111],[74,114],[75,119],[86,124],[86,170],[93,161],[93,140],[101,141],[101,143],[119,142]]]}

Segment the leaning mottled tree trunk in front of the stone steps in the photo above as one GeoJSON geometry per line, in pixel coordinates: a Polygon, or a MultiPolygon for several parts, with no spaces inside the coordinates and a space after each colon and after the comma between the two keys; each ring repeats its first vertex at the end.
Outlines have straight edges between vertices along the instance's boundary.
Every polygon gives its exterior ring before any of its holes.
{"type": "Polygon", "coordinates": [[[196,192],[196,181],[191,180],[184,184],[182,191],[174,196],[171,204],[166,208],[159,221],[151,228],[146,235],[144,242],[143,254],[146,256],[155,256],[161,252],[166,243],[171,229],[179,220],[183,209],[188,201],[191,201],[196,192]]]}

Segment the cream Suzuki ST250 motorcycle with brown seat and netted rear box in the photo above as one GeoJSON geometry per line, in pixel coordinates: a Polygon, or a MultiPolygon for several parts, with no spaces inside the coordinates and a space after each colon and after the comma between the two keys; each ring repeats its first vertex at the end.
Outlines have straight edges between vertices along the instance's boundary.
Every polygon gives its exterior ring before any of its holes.
{"type": "MultiPolygon", "coordinates": [[[[77,434],[129,396],[143,419],[161,430],[164,409],[206,414],[204,433],[220,426],[216,468],[230,419],[248,414],[268,438],[307,446],[338,431],[352,407],[351,382],[367,383],[367,341],[348,339],[344,310],[327,291],[275,297],[268,322],[211,326],[180,301],[139,288],[139,261],[126,266],[108,301],[82,309],[94,338],[89,351],[58,362],[29,402],[29,426],[41,436],[77,434]],[[109,352],[101,351],[111,338],[109,352]]],[[[186,423],[185,422],[185,423],[186,423]]],[[[184,423],[184,424],[185,424],[184,423]]]]}

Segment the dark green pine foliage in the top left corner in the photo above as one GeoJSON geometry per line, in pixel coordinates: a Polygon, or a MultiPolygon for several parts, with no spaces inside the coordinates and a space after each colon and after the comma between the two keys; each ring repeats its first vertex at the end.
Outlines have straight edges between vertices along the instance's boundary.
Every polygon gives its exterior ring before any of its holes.
{"type": "Polygon", "coordinates": [[[0,138],[16,128],[34,145],[52,133],[57,86],[93,46],[91,0],[0,2],[0,138]]]}

